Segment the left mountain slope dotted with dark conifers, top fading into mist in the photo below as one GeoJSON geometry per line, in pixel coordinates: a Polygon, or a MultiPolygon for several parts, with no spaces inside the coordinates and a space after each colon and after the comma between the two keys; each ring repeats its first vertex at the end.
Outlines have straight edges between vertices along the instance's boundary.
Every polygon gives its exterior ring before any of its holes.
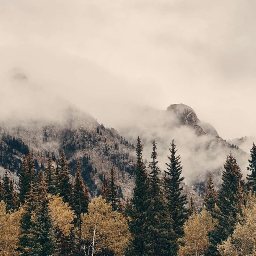
{"type": "MultiPolygon", "coordinates": [[[[67,108],[60,121],[29,120],[10,124],[0,123],[0,165],[18,174],[22,155],[33,152],[36,169],[44,168],[50,154],[55,161],[64,149],[71,174],[80,159],[82,175],[92,196],[100,193],[101,183],[109,177],[111,164],[125,196],[131,197],[133,188],[134,145],[119,135],[113,128],[99,124],[92,116],[67,108]]],[[[3,173],[0,172],[1,177],[3,173]]],[[[13,175],[12,175],[13,176],[13,175]]],[[[17,179],[15,179],[17,183],[17,179]]]]}

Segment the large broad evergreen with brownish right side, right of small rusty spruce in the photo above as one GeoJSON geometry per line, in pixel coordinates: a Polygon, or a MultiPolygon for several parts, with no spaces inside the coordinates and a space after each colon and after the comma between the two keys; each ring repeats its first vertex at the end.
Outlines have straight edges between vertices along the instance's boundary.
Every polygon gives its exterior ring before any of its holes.
{"type": "Polygon", "coordinates": [[[218,219],[218,225],[209,234],[212,245],[209,246],[207,255],[219,255],[217,244],[221,244],[221,240],[224,241],[232,234],[237,213],[241,213],[241,205],[237,207],[237,204],[243,200],[239,197],[243,196],[245,190],[244,180],[242,180],[241,170],[236,163],[236,158],[231,153],[227,155],[224,169],[225,171],[222,172],[221,176],[221,189],[218,194],[218,210],[213,212],[213,216],[218,219]]]}

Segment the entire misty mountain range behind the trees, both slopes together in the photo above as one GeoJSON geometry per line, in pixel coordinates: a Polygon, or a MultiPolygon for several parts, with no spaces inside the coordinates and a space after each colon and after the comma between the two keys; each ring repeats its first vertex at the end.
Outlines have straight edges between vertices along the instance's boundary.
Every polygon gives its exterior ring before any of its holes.
{"type": "Polygon", "coordinates": [[[101,183],[109,178],[113,164],[120,193],[126,199],[132,196],[134,186],[137,136],[142,140],[146,166],[150,161],[151,143],[156,140],[161,170],[168,162],[169,142],[172,138],[175,140],[183,165],[184,193],[188,194],[188,199],[192,196],[198,207],[202,206],[201,196],[209,171],[216,187],[220,188],[226,154],[231,151],[242,170],[246,170],[249,155],[223,140],[211,124],[200,121],[195,111],[184,104],[172,104],[165,111],[137,108],[134,116],[127,118],[128,123],[120,122],[124,125],[118,126],[118,131],[125,137],[70,105],[60,109],[55,120],[31,117],[0,121],[0,178],[8,169],[18,189],[23,154],[27,155],[29,150],[33,152],[38,172],[40,168],[44,169],[49,154],[55,161],[63,149],[71,179],[75,175],[76,161],[80,159],[83,179],[92,196],[99,195],[101,183]]]}

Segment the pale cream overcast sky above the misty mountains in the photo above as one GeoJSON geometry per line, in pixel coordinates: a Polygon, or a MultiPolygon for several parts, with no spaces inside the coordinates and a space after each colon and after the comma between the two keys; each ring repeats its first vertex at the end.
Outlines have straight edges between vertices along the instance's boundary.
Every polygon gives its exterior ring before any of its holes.
{"type": "Polygon", "coordinates": [[[256,136],[255,12],[252,0],[0,0],[0,72],[18,67],[108,126],[131,104],[184,103],[223,138],[256,136]]]}

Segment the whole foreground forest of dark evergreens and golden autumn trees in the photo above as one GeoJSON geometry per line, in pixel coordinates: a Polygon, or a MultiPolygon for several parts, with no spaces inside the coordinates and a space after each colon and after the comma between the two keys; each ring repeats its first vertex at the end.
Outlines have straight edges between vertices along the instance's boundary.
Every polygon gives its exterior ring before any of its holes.
{"type": "Polygon", "coordinates": [[[15,191],[7,170],[0,180],[0,255],[256,255],[254,143],[246,181],[236,158],[228,154],[221,188],[215,190],[209,172],[200,209],[192,197],[182,193],[181,157],[174,140],[166,170],[159,175],[156,142],[146,166],[138,137],[135,186],[126,202],[113,165],[110,178],[103,180],[100,196],[91,198],[83,179],[87,174],[81,172],[80,164],[88,159],[72,162],[70,171],[62,150],[55,162],[49,154],[47,166],[37,172],[37,161],[28,148],[18,140],[12,143],[22,148],[24,156],[19,191],[15,191]],[[72,182],[71,172],[75,173],[72,182]]]}

